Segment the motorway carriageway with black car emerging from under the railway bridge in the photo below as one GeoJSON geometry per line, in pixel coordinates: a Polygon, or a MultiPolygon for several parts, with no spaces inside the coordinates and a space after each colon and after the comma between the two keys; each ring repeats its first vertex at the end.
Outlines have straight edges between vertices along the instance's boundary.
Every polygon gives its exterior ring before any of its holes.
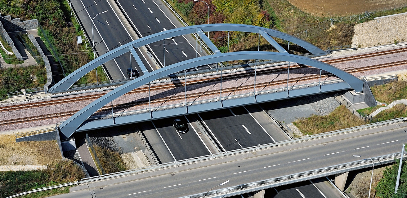
{"type": "MultiPolygon", "coordinates": [[[[166,143],[175,160],[190,159],[211,154],[208,147],[199,138],[193,126],[184,116],[152,121],[162,141],[166,143]],[[181,119],[187,125],[187,132],[179,134],[173,126],[174,119],[181,119]]],[[[154,149],[154,148],[153,148],[154,149]]]]}

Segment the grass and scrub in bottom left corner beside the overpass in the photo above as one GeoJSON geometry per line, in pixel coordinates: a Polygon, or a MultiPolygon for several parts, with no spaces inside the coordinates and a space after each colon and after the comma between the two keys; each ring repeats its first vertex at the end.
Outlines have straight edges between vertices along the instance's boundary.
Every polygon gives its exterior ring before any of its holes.
{"type": "MultiPolygon", "coordinates": [[[[42,171],[0,172],[0,196],[8,197],[36,188],[78,181],[84,176],[83,171],[72,161],[60,161],[55,165],[48,165],[48,169],[42,171]]],[[[26,196],[44,197],[68,191],[69,188],[64,187],[64,189],[53,189],[26,196]]]]}

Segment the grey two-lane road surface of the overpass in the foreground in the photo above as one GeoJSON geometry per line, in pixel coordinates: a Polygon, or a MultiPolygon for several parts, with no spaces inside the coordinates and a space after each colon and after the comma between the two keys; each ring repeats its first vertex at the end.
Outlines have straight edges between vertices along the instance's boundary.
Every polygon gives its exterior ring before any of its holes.
{"type": "MultiPolygon", "coordinates": [[[[375,129],[371,129],[371,131],[372,130],[375,129]]],[[[362,132],[354,132],[350,135],[361,133],[362,132]]],[[[345,135],[341,135],[341,137],[344,136],[345,135]]],[[[292,146],[282,146],[282,148],[274,148],[273,150],[285,151],[265,155],[254,154],[256,157],[250,157],[253,153],[242,154],[234,157],[236,161],[224,159],[224,161],[229,162],[218,163],[202,168],[184,171],[181,171],[182,169],[180,168],[166,170],[167,172],[173,172],[173,174],[162,174],[153,177],[151,177],[151,174],[146,174],[146,176],[150,175],[147,176],[147,178],[145,178],[143,174],[137,174],[129,176],[135,180],[126,183],[109,186],[107,185],[118,182],[119,180],[90,183],[89,187],[92,191],[94,190],[99,198],[109,198],[113,196],[134,197],[136,193],[137,196],[143,196],[144,198],[186,196],[204,192],[207,189],[211,189],[214,184],[220,184],[227,180],[230,180],[230,182],[222,187],[231,187],[295,172],[359,160],[358,158],[352,157],[354,154],[375,157],[400,152],[401,145],[407,141],[407,135],[405,131],[403,131],[403,128],[398,128],[370,135],[324,142],[324,140],[341,139],[341,137],[334,136],[299,143],[292,145],[297,148],[293,150],[287,150],[293,148],[292,146]],[[306,146],[312,144],[316,145],[306,146]],[[103,189],[99,189],[101,185],[103,189]]],[[[257,153],[261,153],[261,151],[257,153]]],[[[55,197],[85,197],[88,196],[88,194],[89,191],[86,188],[86,190],[83,191],[76,191],[55,197]]]]}

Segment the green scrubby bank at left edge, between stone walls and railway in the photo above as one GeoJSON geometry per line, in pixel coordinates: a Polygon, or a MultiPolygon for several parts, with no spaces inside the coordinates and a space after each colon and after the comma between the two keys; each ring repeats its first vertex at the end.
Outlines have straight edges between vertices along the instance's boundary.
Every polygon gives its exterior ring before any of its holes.
{"type": "Polygon", "coordinates": [[[7,68],[0,70],[0,100],[7,97],[7,93],[41,87],[47,81],[45,67],[28,66],[20,68],[7,68]],[[37,76],[37,80],[31,79],[30,75],[37,76]]]}

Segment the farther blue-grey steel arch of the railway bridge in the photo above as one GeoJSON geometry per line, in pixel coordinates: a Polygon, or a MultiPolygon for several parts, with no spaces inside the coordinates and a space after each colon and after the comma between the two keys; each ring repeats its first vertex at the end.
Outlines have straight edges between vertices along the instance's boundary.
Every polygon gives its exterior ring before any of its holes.
{"type": "MultiPolygon", "coordinates": [[[[153,35],[149,35],[147,37],[143,37],[141,39],[131,41],[123,46],[120,46],[114,50],[111,50],[111,51],[103,54],[102,56],[98,57],[97,59],[94,59],[94,60],[90,61],[89,63],[83,65],[78,70],[72,72],[71,74],[69,74],[68,76],[63,78],[61,81],[59,81],[57,84],[55,84],[53,87],[51,87],[49,89],[49,91],[50,92],[59,92],[59,91],[68,90],[82,76],[85,76],[85,74],[88,74],[90,71],[94,70],[99,65],[102,65],[109,60],[112,60],[131,50],[134,50],[134,48],[139,48],[141,46],[145,46],[147,44],[151,44],[156,41],[161,41],[166,38],[197,33],[198,31],[201,31],[201,30],[204,32],[238,31],[238,32],[259,33],[260,35],[263,35],[263,37],[265,37],[267,40],[270,40],[271,37],[276,37],[276,38],[280,38],[280,39],[292,42],[292,43],[297,44],[297,45],[301,46],[302,48],[308,50],[309,52],[311,52],[314,55],[326,54],[326,52],[324,50],[319,49],[317,46],[314,46],[313,44],[310,44],[307,41],[304,41],[304,40],[294,37],[292,35],[282,33],[277,30],[272,30],[269,28],[263,28],[263,27],[251,26],[251,25],[243,25],[243,24],[204,24],[204,25],[196,25],[196,26],[187,26],[187,27],[182,27],[182,28],[166,30],[166,31],[160,32],[160,33],[155,33],[153,35]]],[[[276,46],[276,48],[278,50],[284,50],[281,48],[281,46],[278,47],[278,44],[276,44],[275,41],[272,42],[271,44],[273,46],[276,46]]],[[[138,58],[138,57],[135,57],[135,58],[138,58]]],[[[212,62],[212,63],[214,63],[214,62],[212,62]]],[[[141,68],[143,68],[142,66],[144,66],[144,65],[140,65],[141,68]]]]}

